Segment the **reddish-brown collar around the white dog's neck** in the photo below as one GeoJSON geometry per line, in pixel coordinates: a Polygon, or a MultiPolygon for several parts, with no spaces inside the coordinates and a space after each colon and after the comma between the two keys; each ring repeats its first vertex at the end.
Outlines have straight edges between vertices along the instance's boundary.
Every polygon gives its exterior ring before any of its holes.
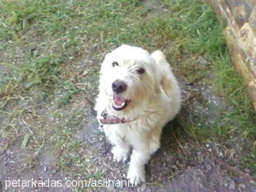
{"type": "Polygon", "coordinates": [[[106,111],[106,109],[104,109],[101,113],[101,117],[103,117],[103,119],[100,119],[100,123],[102,125],[104,124],[121,124],[121,123],[129,123],[132,120],[126,119],[124,117],[117,117],[115,115],[109,115],[108,112],[106,111]]]}

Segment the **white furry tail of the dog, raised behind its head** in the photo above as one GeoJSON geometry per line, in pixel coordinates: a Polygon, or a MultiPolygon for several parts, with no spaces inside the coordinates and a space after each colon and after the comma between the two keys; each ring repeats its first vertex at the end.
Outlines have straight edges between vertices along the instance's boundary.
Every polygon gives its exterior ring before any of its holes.
{"type": "Polygon", "coordinates": [[[169,63],[166,61],[165,55],[162,51],[155,51],[151,54],[151,56],[155,59],[159,69],[161,71],[161,87],[165,94],[170,97],[172,92],[178,91],[179,87],[177,87],[177,81],[173,75],[172,68],[169,63]]]}

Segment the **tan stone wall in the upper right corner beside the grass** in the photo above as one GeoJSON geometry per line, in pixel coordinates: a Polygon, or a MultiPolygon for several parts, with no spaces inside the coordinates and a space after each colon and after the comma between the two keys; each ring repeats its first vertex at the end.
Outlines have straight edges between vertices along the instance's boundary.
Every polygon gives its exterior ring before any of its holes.
{"type": "Polygon", "coordinates": [[[256,110],[256,0],[210,0],[227,20],[225,35],[232,62],[243,75],[256,110]]]}

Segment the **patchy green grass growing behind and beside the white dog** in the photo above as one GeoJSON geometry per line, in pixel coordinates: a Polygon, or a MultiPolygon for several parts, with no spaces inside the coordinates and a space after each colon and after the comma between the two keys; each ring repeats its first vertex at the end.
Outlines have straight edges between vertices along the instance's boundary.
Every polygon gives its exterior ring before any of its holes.
{"type": "MultiPolygon", "coordinates": [[[[219,111],[215,122],[195,116],[191,103],[185,103],[187,114],[179,121],[201,143],[255,138],[255,114],[230,63],[225,24],[204,1],[3,0],[0,7],[0,68],[5,71],[0,72],[0,113],[5,117],[1,133],[6,147],[17,137],[23,117],[34,138],[45,148],[54,148],[56,166],[84,173],[90,165],[79,155],[81,143],[75,138],[86,119],[81,100],[84,95],[94,100],[99,63],[120,44],[164,49],[181,81],[206,84],[224,98],[230,108],[219,111]],[[198,64],[200,55],[208,65],[198,64]]],[[[35,139],[27,141],[26,134],[24,140],[34,146],[35,139]]],[[[255,143],[249,146],[241,166],[255,173],[255,143]]]]}

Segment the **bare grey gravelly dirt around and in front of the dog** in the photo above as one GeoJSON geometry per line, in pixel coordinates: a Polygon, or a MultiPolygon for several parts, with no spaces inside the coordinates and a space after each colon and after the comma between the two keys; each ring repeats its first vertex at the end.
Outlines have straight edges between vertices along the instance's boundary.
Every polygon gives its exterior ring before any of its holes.
{"type": "MultiPolygon", "coordinates": [[[[212,95],[210,89],[203,85],[195,87],[182,84],[183,103],[190,102],[198,116],[207,116],[214,119],[218,110],[228,109],[222,98],[212,95]],[[191,93],[199,94],[206,100],[208,106],[200,104],[191,99],[191,93]],[[209,111],[208,109],[214,109],[209,111]]],[[[128,162],[116,163],[110,153],[110,144],[104,146],[103,134],[98,130],[96,114],[92,110],[92,103],[85,101],[81,108],[86,113],[86,123],[82,129],[75,133],[75,137],[81,143],[79,155],[86,157],[88,163],[93,162],[89,168],[90,172],[101,172],[103,178],[112,180],[125,180],[128,162]]],[[[239,172],[236,167],[226,165],[223,149],[218,143],[205,143],[199,145],[195,140],[187,137],[181,145],[175,134],[177,132],[178,118],[186,114],[182,109],[180,115],[166,125],[162,134],[162,145],[160,150],[152,157],[146,165],[146,183],[136,187],[108,187],[108,188],[19,188],[19,191],[72,191],[72,190],[95,190],[95,191],[256,191],[255,181],[244,172],[239,172]],[[217,159],[217,160],[216,160],[217,159]],[[237,170],[237,172],[236,172],[237,170]]],[[[20,122],[22,123],[22,122],[20,122]]],[[[180,129],[180,128],[179,128],[180,129]]],[[[20,133],[22,135],[22,133],[20,133]]],[[[70,178],[70,173],[58,170],[54,166],[56,157],[49,151],[42,150],[37,155],[37,160],[28,166],[29,148],[20,150],[22,138],[17,137],[11,146],[1,155],[1,188],[4,191],[5,180],[61,180],[65,182],[70,178]],[[24,159],[26,158],[26,159],[24,159]]],[[[72,166],[72,165],[71,165],[72,166]]],[[[87,180],[86,175],[77,177],[87,180]]],[[[9,188],[8,191],[17,191],[9,188]]]]}

